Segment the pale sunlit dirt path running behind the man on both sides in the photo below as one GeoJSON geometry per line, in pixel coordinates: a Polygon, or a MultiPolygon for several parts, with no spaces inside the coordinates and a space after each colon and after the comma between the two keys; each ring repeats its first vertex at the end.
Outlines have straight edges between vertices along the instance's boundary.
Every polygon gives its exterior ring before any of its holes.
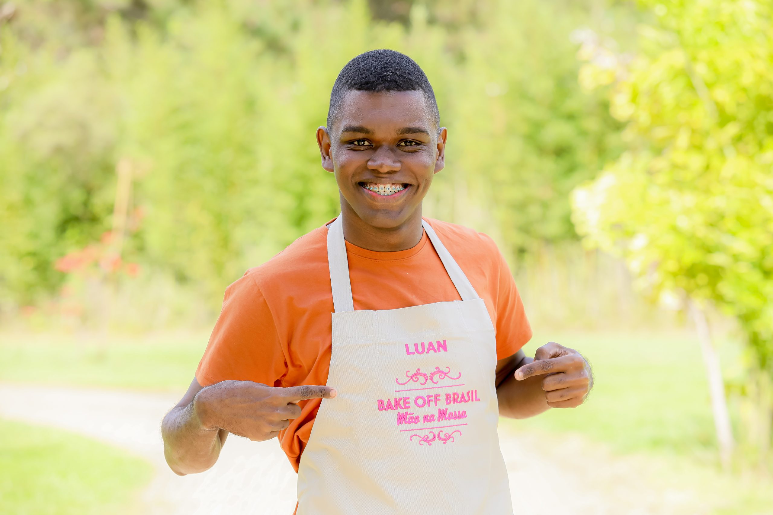
{"type": "MultiPolygon", "coordinates": [[[[142,494],[142,513],[292,513],[295,473],[276,440],[230,435],[212,469],[172,473],[159,428],[177,401],[179,395],[0,384],[0,416],[80,432],[152,462],[158,473],[142,494]]],[[[710,513],[690,490],[645,479],[651,464],[615,458],[581,439],[556,442],[503,430],[499,439],[516,515],[710,513]]]]}

